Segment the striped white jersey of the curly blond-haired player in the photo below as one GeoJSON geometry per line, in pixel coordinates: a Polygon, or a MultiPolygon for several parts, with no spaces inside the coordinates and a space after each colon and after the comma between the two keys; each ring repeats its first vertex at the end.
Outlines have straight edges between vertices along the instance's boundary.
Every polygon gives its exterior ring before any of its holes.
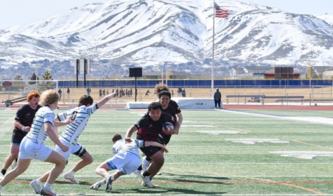
{"type": "Polygon", "coordinates": [[[30,139],[32,142],[37,144],[44,144],[48,134],[44,128],[44,123],[54,124],[54,113],[53,110],[48,106],[41,107],[31,124],[30,131],[25,137],[30,139]]]}

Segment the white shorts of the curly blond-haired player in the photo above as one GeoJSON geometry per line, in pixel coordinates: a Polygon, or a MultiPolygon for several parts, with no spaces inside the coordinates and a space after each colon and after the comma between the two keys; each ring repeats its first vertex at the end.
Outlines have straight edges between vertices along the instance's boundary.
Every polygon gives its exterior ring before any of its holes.
{"type": "Polygon", "coordinates": [[[21,159],[37,159],[45,161],[51,154],[52,149],[44,144],[37,144],[24,137],[20,145],[19,157],[21,159]]]}

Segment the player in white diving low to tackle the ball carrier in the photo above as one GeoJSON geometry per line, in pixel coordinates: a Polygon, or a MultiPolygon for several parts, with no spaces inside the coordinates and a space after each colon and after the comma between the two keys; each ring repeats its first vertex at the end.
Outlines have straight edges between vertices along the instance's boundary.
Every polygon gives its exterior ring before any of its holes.
{"type": "Polygon", "coordinates": [[[105,179],[96,182],[90,189],[97,190],[100,186],[107,183],[105,191],[108,193],[112,189],[113,181],[118,179],[121,175],[129,175],[134,172],[141,163],[139,147],[156,146],[161,147],[166,153],[168,152],[164,145],[153,141],[135,139],[131,142],[125,142],[118,133],[112,136],[112,143],[112,153],[114,156],[104,161],[95,170],[98,175],[105,177],[105,179]],[[113,174],[108,173],[108,171],[116,169],[117,171],[113,174]]]}

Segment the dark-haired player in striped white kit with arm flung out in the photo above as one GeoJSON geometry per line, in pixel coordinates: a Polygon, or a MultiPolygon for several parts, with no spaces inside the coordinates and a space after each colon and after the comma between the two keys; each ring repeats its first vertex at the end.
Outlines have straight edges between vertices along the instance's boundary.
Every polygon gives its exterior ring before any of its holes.
{"type": "MultiPolygon", "coordinates": [[[[68,125],[66,125],[65,130],[60,136],[60,141],[63,145],[66,145],[69,147],[69,150],[66,152],[63,152],[60,146],[56,145],[55,150],[62,154],[66,161],[70,158],[71,153],[74,155],[77,155],[82,160],[76,163],[74,168],[71,169],[70,172],[67,172],[63,175],[65,179],[71,180],[74,184],[79,184],[79,181],[74,177],[75,172],[78,170],[84,168],[85,166],[93,163],[94,159],[89,154],[89,152],[85,149],[85,147],[82,147],[79,143],[77,143],[77,140],[86,127],[86,124],[90,118],[90,116],[102,105],[104,105],[108,100],[113,98],[116,95],[116,93],[110,94],[97,103],[94,103],[94,100],[92,97],[84,95],[79,99],[78,107],[75,107],[71,110],[68,110],[66,112],[60,113],[55,118],[55,121],[64,121],[66,118],[71,116],[72,122],[68,125]]],[[[45,182],[48,179],[49,173],[46,172],[43,174],[40,178],[31,181],[30,184],[32,184],[32,187],[34,188],[36,194],[38,194],[41,190],[41,184],[45,182]]]]}

